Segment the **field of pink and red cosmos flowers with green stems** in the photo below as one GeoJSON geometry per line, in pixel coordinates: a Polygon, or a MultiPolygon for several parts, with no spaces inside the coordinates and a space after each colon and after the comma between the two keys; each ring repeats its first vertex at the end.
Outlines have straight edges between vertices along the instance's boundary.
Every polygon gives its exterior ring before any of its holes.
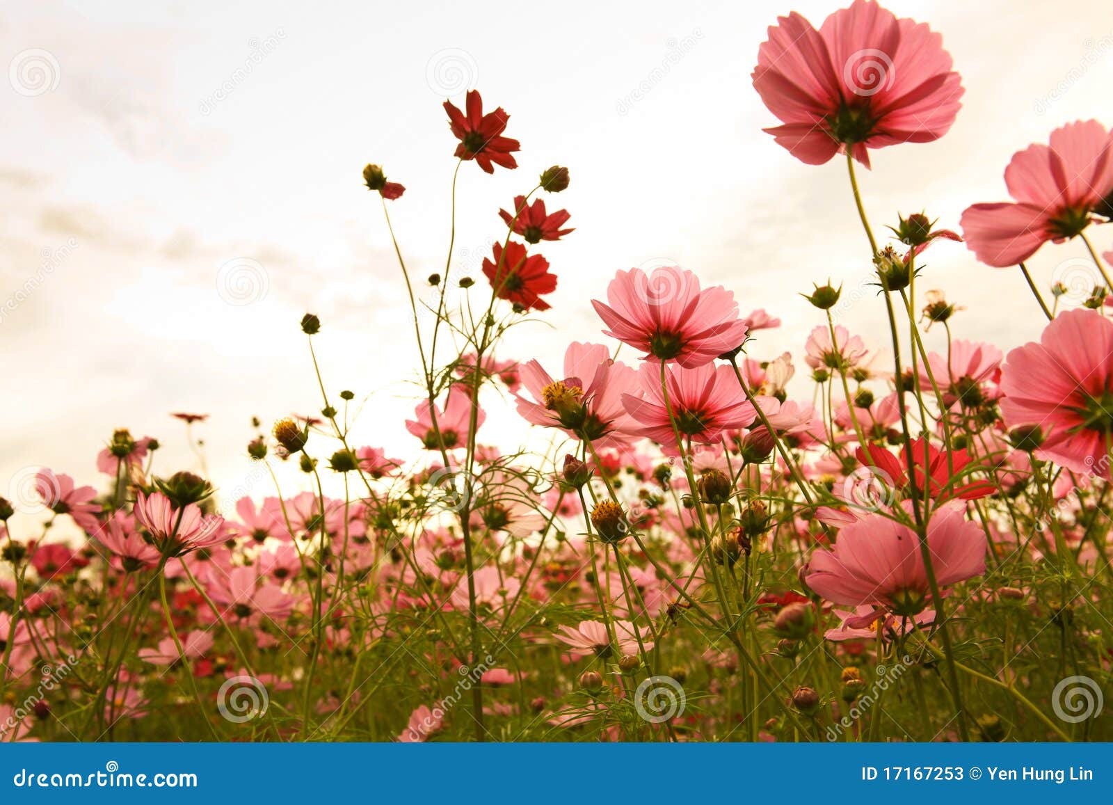
{"type": "MultiPolygon", "coordinates": [[[[574,166],[520,165],[511,116],[467,91],[433,155],[454,157],[453,237],[460,175],[520,180],[475,271],[450,245],[416,275],[391,214],[421,199],[362,174],[411,305],[412,415],[382,423],[410,449],[353,440],[306,313],[316,371],[293,380],[318,410],[244,435],[266,493],[166,465],[127,423],[14,479],[0,740],[1113,740],[1113,131],[1016,143],[998,198],[956,220],[867,208],[871,153],[915,160],[962,114],[943,37],[868,0],[770,23],[770,147],[845,173],[817,203],[860,219],[886,343],[833,284],[784,289],[810,330],[768,354],[778,311],[698,271],[550,262],[605,222],[562,208],[574,166]],[[1068,247],[1100,277],[1081,295],[1026,265],[1068,247]],[[928,249],[993,273],[1028,342],[965,337],[977,311],[928,249]],[[612,278],[563,364],[518,353],[588,271],[612,278]],[[510,419],[526,446],[485,436],[510,419]]],[[[173,416],[159,435],[198,443],[206,415],[173,416]]]]}

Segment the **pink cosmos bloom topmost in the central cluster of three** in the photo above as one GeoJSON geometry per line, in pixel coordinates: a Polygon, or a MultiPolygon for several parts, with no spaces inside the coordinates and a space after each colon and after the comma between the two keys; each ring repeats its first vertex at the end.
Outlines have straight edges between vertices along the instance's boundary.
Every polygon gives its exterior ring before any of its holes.
{"type": "Polygon", "coordinates": [[[610,327],[603,333],[643,350],[647,361],[702,366],[746,341],[733,293],[718,285],[701,291],[695,274],[676,266],[649,275],[620,271],[607,286],[607,301],[591,301],[610,327]]]}

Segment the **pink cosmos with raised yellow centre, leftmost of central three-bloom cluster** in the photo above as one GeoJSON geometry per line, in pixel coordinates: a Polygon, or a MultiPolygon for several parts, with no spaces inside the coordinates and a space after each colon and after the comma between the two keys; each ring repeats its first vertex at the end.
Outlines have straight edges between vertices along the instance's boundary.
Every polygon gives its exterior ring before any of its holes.
{"type": "Polygon", "coordinates": [[[522,382],[533,400],[515,394],[518,413],[544,428],[561,428],[597,448],[629,442],[618,431],[627,424],[622,393],[633,391],[634,370],[611,360],[600,344],[572,342],[564,352],[564,379],[553,377],[536,361],[521,370],[522,382]],[[534,400],[539,402],[534,402],[534,400]]]}

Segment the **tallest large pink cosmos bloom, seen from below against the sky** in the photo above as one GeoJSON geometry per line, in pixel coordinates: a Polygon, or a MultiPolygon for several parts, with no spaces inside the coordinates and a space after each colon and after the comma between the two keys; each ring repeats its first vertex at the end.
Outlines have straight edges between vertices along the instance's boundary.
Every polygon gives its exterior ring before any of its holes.
{"type": "Polygon", "coordinates": [[[926,24],[855,0],[817,31],[800,14],[777,19],[751,78],[782,126],[766,129],[800,161],[823,165],[847,149],[930,143],[958,114],[962,79],[926,24]]]}

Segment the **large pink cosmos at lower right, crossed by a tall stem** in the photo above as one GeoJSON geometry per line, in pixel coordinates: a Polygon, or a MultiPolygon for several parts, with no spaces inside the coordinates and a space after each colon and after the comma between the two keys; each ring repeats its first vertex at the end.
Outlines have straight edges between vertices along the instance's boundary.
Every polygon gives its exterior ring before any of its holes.
{"type": "MultiPolygon", "coordinates": [[[[927,524],[927,543],[940,587],[985,572],[985,533],[966,520],[962,503],[935,510],[927,524]]],[[[919,539],[884,514],[845,526],[833,550],[811,554],[805,580],[835,603],[874,603],[904,616],[924,611],[930,596],[919,539]]]]}

